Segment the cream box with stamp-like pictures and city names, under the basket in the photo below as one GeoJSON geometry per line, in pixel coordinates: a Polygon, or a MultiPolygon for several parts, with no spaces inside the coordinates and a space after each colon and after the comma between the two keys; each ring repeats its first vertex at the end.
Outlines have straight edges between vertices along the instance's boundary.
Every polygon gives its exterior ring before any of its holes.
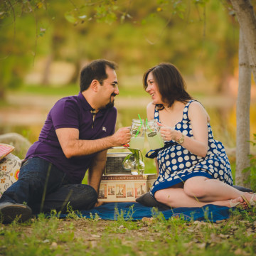
{"type": "Polygon", "coordinates": [[[102,176],[98,201],[134,202],[149,191],[154,181],[156,174],[102,176]]]}

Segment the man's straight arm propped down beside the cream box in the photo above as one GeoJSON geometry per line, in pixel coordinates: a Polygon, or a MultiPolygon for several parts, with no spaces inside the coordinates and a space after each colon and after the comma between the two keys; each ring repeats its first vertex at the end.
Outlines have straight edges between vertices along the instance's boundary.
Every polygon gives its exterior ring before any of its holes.
{"type": "Polygon", "coordinates": [[[100,181],[106,166],[107,150],[100,151],[93,159],[88,171],[88,185],[95,189],[97,194],[100,189],[100,181]]]}

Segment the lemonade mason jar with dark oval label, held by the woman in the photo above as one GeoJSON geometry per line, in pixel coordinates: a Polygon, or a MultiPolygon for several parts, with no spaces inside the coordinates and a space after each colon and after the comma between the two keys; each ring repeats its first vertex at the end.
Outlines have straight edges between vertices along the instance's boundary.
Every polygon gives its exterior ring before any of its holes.
{"type": "Polygon", "coordinates": [[[160,149],[164,146],[164,139],[161,137],[159,132],[160,127],[158,126],[156,119],[152,119],[146,124],[146,137],[149,142],[150,149],[160,149]]]}

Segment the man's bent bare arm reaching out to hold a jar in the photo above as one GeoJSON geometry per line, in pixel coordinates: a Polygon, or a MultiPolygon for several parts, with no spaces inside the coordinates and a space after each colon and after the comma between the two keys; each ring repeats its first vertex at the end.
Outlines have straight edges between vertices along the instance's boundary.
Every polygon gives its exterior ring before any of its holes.
{"type": "Polygon", "coordinates": [[[56,129],[56,134],[67,158],[94,154],[113,146],[122,146],[127,144],[131,137],[129,127],[118,129],[112,136],[94,140],[79,139],[79,130],[75,128],[56,129]]]}

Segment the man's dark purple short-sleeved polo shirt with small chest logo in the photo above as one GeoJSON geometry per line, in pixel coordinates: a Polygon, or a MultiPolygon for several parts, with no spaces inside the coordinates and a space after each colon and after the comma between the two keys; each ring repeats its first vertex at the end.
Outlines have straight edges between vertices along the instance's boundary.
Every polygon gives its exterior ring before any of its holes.
{"type": "Polygon", "coordinates": [[[76,96],[58,100],[48,113],[38,142],[35,142],[28,149],[26,159],[31,157],[46,159],[64,171],[71,183],[81,183],[95,154],[67,159],[60,147],[55,129],[79,129],[79,139],[90,140],[101,139],[114,134],[117,120],[116,108],[100,110],[97,112],[94,122],[90,110],[92,107],[81,92],[76,96]]]}

